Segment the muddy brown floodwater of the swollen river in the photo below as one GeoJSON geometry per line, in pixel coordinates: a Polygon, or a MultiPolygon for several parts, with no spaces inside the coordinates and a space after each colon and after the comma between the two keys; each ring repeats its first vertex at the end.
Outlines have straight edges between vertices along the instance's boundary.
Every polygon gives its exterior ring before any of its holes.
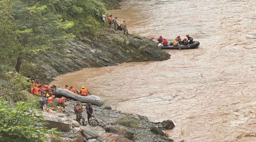
{"type": "Polygon", "coordinates": [[[166,61],[85,68],[52,84],[86,86],[113,109],[173,120],[166,132],[175,141],[256,141],[255,10],[255,0],[127,1],[109,13],[130,33],[170,42],[189,34],[200,47],[166,51],[166,61]]]}

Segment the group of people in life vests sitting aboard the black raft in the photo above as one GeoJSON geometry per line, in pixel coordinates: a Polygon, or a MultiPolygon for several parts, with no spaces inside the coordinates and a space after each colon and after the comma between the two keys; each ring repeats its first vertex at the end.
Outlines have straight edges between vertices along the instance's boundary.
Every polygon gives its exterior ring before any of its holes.
{"type": "Polygon", "coordinates": [[[193,38],[191,38],[191,36],[186,35],[187,38],[184,38],[183,40],[181,40],[180,36],[177,36],[175,38],[175,40],[170,43],[167,41],[166,38],[163,38],[163,36],[159,36],[159,38],[157,38],[158,43],[161,43],[163,46],[168,46],[168,45],[173,45],[173,46],[179,46],[179,45],[189,45],[191,43],[193,43],[193,38]]]}

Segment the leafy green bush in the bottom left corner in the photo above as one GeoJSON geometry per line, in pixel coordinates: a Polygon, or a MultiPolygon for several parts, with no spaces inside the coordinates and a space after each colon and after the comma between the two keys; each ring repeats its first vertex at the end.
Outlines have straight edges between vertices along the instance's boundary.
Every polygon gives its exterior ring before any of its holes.
{"type": "Polygon", "coordinates": [[[1,141],[47,141],[45,134],[54,135],[56,129],[44,127],[44,117],[34,108],[36,102],[18,102],[15,106],[0,98],[1,141]]]}

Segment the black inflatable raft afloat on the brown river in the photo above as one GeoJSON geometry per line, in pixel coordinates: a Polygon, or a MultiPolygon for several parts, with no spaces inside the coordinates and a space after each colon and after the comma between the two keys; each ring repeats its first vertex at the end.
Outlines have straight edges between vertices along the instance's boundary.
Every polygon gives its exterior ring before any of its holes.
{"type": "Polygon", "coordinates": [[[161,49],[195,49],[200,45],[200,42],[193,41],[193,43],[189,45],[179,45],[179,46],[173,46],[172,42],[169,43],[168,46],[164,46],[163,44],[159,43],[158,47],[161,49]]]}

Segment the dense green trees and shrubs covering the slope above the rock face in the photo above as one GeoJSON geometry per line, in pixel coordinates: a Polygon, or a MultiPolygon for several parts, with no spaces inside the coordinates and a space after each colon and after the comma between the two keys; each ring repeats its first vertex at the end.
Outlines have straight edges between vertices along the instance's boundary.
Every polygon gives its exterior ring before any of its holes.
{"type": "Polygon", "coordinates": [[[106,7],[97,0],[0,1],[0,65],[20,72],[29,54],[54,51],[76,37],[99,35],[103,12],[106,7]]]}

